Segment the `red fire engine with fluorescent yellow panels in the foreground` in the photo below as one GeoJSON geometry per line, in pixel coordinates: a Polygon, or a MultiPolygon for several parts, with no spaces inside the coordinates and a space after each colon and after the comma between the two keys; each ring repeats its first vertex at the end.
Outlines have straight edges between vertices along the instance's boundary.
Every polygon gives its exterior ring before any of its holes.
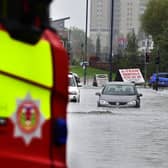
{"type": "Polygon", "coordinates": [[[68,56],[50,0],[0,0],[0,167],[66,168],[68,56]]]}

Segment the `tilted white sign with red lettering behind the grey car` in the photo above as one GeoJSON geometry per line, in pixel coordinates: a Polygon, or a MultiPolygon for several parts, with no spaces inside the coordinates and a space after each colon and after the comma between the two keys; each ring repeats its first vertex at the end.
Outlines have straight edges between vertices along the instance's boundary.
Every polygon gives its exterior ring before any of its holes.
{"type": "Polygon", "coordinates": [[[136,84],[143,84],[144,78],[140,69],[119,69],[121,77],[124,82],[135,82],[136,84]]]}

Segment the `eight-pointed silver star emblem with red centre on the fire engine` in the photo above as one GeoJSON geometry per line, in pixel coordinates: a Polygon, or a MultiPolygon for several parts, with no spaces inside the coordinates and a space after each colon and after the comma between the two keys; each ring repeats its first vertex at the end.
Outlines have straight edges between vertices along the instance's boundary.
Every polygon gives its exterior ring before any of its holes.
{"type": "Polygon", "coordinates": [[[14,137],[22,137],[27,145],[34,137],[41,137],[45,119],[39,109],[40,101],[33,100],[29,93],[25,99],[17,100],[16,112],[11,118],[15,125],[14,137]]]}

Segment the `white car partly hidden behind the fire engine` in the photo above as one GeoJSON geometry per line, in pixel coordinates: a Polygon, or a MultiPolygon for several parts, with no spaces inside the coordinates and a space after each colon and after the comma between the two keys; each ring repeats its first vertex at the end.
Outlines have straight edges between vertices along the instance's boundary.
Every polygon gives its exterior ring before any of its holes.
{"type": "Polygon", "coordinates": [[[80,90],[75,80],[75,76],[72,73],[69,73],[68,78],[69,78],[69,87],[68,87],[69,101],[80,102],[80,90]]]}

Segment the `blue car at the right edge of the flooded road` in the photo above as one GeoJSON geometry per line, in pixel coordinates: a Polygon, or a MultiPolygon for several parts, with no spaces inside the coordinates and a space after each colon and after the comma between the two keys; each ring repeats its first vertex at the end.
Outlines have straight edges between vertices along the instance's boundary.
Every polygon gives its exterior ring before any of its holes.
{"type": "Polygon", "coordinates": [[[159,87],[168,87],[168,72],[159,72],[158,76],[156,73],[153,73],[149,79],[149,86],[154,87],[157,80],[159,87]]]}

